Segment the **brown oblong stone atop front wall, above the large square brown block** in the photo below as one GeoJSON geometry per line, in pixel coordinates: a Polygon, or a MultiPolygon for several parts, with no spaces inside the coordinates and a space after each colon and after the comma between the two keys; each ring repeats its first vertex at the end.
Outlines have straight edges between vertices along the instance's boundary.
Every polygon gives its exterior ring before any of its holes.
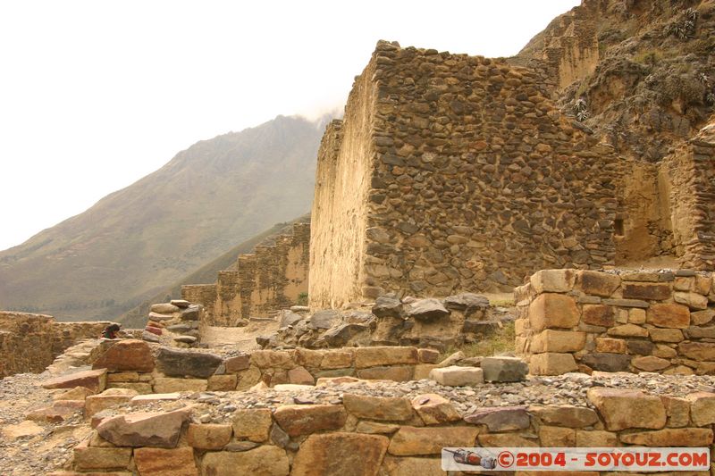
{"type": "Polygon", "coordinates": [[[345,424],[348,413],[342,405],[283,405],[275,410],[273,418],[291,437],[297,437],[338,430],[345,424]]]}

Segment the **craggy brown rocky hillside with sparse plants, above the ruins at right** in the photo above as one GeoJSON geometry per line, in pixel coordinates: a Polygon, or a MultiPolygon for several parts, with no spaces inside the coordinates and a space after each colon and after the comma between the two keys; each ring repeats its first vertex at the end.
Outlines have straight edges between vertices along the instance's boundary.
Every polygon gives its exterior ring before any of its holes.
{"type": "Polygon", "coordinates": [[[556,65],[565,113],[580,106],[618,154],[658,162],[715,112],[715,1],[583,0],[514,60],[556,65]]]}

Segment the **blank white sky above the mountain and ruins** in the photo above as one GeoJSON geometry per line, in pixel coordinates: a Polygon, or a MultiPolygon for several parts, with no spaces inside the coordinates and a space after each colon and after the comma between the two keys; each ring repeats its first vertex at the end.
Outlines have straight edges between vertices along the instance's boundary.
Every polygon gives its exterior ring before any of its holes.
{"type": "Polygon", "coordinates": [[[194,142],[341,107],[378,39],[509,56],[578,0],[0,3],[0,250],[194,142]]]}

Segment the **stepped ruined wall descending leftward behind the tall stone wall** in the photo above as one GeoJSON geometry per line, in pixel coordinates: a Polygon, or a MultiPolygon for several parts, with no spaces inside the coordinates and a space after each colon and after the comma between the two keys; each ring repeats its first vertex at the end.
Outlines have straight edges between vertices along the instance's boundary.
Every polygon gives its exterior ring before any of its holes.
{"type": "Polygon", "coordinates": [[[202,323],[236,326],[297,304],[307,293],[310,223],[295,223],[290,235],[240,255],[235,269],[220,271],[215,284],[181,287],[181,296],[204,306],[202,323]]]}

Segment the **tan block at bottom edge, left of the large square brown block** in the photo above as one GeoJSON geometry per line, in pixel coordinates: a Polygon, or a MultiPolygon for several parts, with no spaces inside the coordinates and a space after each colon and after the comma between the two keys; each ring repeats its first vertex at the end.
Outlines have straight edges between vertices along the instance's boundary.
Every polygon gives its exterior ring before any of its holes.
{"type": "Polygon", "coordinates": [[[215,451],[204,455],[201,474],[211,476],[236,476],[256,474],[261,476],[288,476],[290,465],[284,449],[264,445],[248,451],[215,451]]]}

